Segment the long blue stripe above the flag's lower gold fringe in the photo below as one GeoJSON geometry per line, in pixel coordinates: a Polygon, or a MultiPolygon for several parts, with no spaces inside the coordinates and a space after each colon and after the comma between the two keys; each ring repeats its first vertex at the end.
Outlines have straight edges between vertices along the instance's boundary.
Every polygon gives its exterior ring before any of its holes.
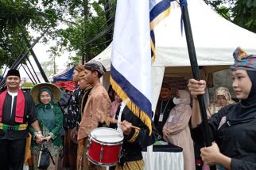
{"type": "Polygon", "coordinates": [[[117,84],[122,88],[126,95],[130,98],[132,102],[142,111],[144,111],[149,118],[152,118],[151,111],[151,103],[150,101],[138,90],[134,87],[134,85],[130,84],[129,81],[126,80],[125,77],[122,76],[117,70],[115,70],[114,66],[111,64],[111,77],[117,84]]]}

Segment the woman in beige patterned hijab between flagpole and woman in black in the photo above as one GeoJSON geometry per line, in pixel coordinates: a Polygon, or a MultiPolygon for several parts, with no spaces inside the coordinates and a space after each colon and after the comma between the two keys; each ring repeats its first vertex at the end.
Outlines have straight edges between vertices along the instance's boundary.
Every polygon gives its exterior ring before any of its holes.
{"type": "Polygon", "coordinates": [[[220,108],[223,108],[228,104],[235,104],[235,101],[231,99],[231,93],[229,93],[229,90],[225,87],[215,89],[213,102],[207,108],[208,119],[211,118],[211,115],[217,113],[220,108]]]}

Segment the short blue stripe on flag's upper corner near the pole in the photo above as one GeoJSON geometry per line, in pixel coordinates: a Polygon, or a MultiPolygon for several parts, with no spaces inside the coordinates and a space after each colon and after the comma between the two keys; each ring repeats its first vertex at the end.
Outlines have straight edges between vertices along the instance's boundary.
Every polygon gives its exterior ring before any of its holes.
{"type": "Polygon", "coordinates": [[[157,3],[156,6],[153,6],[153,9],[150,11],[150,22],[153,21],[160,13],[168,9],[171,1],[172,0],[163,0],[157,3]]]}

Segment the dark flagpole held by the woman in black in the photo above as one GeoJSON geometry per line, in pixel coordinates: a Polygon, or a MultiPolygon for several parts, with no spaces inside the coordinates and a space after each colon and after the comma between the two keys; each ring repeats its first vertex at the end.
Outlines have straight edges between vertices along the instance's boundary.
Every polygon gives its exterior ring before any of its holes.
{"type": "MultiPolygon", "coordinates": [[[[186,40],[187,40],[187,46],[188,46],[188,55],[190,59],[190,65],[192,69],[192,74],[193,77],[199,81],[200,80],[200,72],[198,69],[198,64],[197,64],[197,59],[196,59],[196,49],[194,45],[194,40],[192,36],[192,30],[191,30],[191,25],[189,21],[189,15],[188,15],[188,6],[187,6],[187,1],[186,0],[180,0],[180,8],[181,8],[181,15],[182,15],[182,20],[184,23],[184,31],[186,33],[186,40]]],[[[182,25],[182,23],[181,23],[182,25]]],[[[201,112],[201,118],[202,118],[202,123],[204,127],[204,139],[205,139],[205,144],[206,146],[211,146],[211,137],[210,137],[210,129],[208,125],[208,119],[207,119],[207,113],[206,113],[206,108],[204,104],[204,96],[199,95],[197,96],[199,105],[200,105],[200,112],[201,112]]],[[[215,170],[215,166],[210,167],[211,170],[215,170]]]]}

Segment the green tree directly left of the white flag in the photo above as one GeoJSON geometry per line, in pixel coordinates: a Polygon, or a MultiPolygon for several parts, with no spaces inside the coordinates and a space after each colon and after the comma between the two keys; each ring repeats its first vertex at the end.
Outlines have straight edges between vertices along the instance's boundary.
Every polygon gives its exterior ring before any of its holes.
{"type": "Polygon", "coordinates": [[[68,28],[57,30],[56,36],[60,37],[60,47],[76,51],[76,57],[72,58],[74,61],[88,61],[111,43],[115,3],[113,0],[77,0],[60,3],[61,6],[69,6],[68,15],[72,17],[72,22],[67,23],[68,28]]]}

